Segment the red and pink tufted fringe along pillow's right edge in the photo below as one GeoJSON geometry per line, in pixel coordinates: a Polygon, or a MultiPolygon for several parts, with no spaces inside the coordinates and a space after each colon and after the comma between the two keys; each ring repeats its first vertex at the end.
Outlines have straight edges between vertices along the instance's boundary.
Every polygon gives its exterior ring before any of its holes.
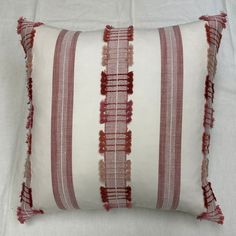
{"type": "Polygon", "coordinates": [[[218,205],[216,205],[216,197],[211,188],[211,183],[208,182],[208,154],[210,146],[210,130],[213,127],[213,100],[214,100],[214,76],[216,73],[217,59],[216,55],[219,50],[222,30],[226,27],[226,14],[221,13],[215,16],[201,16],[200,20],[206,21],[206,33],[207,42],[209,44],[208,49],[208,74],[206,76],[205,83],[205,112],[203,118],[204,132],[202,135],[202,189],[204,196],[204,205],[207,212],[203,212],[199,215],[198,219],[205,219],[223,224],[224,216],[218,205]]]}

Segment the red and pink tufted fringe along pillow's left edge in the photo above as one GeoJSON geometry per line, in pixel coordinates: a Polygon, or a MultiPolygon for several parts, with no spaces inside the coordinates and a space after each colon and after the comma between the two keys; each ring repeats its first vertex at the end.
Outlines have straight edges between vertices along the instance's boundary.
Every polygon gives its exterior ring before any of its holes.
{"type": "Polygon", "coordinates": [[[34,43],[35,27],[42,25],[41,22],[30,22],[24,18],[18,20],[17,33],[21,35],[21,45],[25,52],[26,58],[26,73],[27,73],[27,89],[28,89],[28,116],[26,123],[26,144],[27,157],[25,161],[24,178],[25,182],[22,184],[22,191],[20,194],[21,206],[17,208],[17,216],[20,223],[37,214],[43,214],[42,210],[33,208],[32,189],[31,189],[31,146],[32,146],[32,127],[33,127],[33,90],[32,90],[32,47],[34,43]]]}

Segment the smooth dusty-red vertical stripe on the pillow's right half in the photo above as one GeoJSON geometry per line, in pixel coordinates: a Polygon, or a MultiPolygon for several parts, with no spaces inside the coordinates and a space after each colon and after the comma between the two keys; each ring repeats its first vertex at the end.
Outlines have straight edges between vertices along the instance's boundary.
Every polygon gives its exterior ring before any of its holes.
{"type": "Polygon", "coordinates": [[[157,208],[176,209],[180,196],[183,46],[179,26],[159,29],[161,114],[157,208]]]}

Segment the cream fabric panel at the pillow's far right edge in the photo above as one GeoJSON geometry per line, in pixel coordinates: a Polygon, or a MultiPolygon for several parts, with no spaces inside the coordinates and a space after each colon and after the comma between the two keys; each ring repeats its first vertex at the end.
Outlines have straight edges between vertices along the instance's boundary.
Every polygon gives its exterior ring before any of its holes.
{"type": "MultiPolygon", "coordinates": [[[[181,191],[179,210],[200,215],[204,211],[201,188],[204,88],[207,75],[205,22],[181,26],[184,58],[181,191]],[[201,130],[201,132],[199,132],[201,130]]],[[[214,187],[214,186],[213,186],[214,187]]]]}

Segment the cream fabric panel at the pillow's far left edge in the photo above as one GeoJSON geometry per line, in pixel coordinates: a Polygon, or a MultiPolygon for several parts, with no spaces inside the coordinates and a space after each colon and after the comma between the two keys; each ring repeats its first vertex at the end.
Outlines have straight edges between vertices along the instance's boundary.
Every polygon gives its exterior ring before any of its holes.
{"type": "Polygon", "coordinates": [[[57,209],[51,184],[52,79],[48,78],[52,78],[54,49],[59,33],[59,29],[51,27],[36,28],[32,51],[33,100],[35,104],[31,159],[32,198],[36,208],[44,209],[57,209]],[[50,37],[47,37],[48,34],[50,37]],[[46,38],[47,43],[45,43],[46,38]]]}

